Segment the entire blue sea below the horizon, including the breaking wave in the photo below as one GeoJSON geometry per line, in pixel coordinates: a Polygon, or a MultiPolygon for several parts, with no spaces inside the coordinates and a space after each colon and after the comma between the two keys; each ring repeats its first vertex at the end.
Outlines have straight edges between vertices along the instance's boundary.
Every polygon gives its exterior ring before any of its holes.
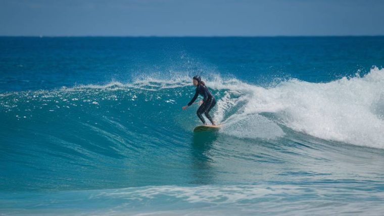
{"type": "Polygon", "coordinates": [[[0,37],[0,215],[383,215],[383,66],[379,36],[0,37]]]}

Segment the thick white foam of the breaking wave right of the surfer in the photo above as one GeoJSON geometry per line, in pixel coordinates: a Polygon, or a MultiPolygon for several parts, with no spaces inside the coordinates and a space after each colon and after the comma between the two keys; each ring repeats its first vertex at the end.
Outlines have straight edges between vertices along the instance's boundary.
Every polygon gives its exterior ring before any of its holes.
{"type": "MultiPolygon", "coordinates": [[[[278,122],[311,136],[384,148],[384,69],[372,68],[363,77],[343,77],[327,83],[292,79],[267,89],[238,80],[208,84],[216,89],[241,92],[241,100],[246,101],[238,113],[224,123],[232,124],[239,121],[238,118],[247,119],[244,116],[269,112],[278,122]]],[[[234,103],[236,100],[239,99],[234,103]]],[[[222,116],[223,105],[218,107],[218,116],[222,116]]],[[[255,119],[247,121],[243,124],[249,127],[255,119]]],[[[258,129],[256,126],[255,133],[258,129]]]]}

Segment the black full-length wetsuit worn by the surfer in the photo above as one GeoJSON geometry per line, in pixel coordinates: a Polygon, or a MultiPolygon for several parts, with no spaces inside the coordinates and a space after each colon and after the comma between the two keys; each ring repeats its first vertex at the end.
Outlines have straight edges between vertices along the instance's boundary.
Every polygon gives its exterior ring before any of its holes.
{"type": "Polygon", "coordinates": [[[196,87],[195,96],[192,98],[192,100],[190,100],[188,106],[192,105],[199,95],[203,96],[204,99],[203,104],[199,107],[196,114],[198,115],[200,120],[203,121],[203,123],[205,124],[205,120],[202,115],[202,113],[204,112],[205,116],[213,123],[212,117],[209,115],[209,111],[211,111],[212,107],[215,106],[216,100],[205,85],[201,83],[198,84],[198,86],[196,87]]]}

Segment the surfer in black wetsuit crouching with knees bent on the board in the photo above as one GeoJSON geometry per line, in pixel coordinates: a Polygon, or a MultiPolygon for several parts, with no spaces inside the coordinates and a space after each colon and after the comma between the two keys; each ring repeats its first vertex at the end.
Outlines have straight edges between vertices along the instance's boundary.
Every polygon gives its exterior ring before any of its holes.
{"type": "Polygon", "coordinates": [[[211,92],[208,90],[206,87],[205,83],[201,80],[200,76],[196,75],[193,78],[194,85],[196,86],[196,93],[195,96],[190,100],[190,102],[183,106],[182,109],[185,110],[188,108],[190,105],[192,105],[195,100],[198,98],[199,95],[203,96],[203,100],[199,101],[199,105],[201,105],[196,112],[198,117],[200,118],[201,121],[203,121],[204,125],[207,125],[203,118],[203,113],[204,115],[211,121],[212,125],[216,125],[215,122],[213,121],[211,115],[209,115],[209,111],[211,111],[212,107],[215,106],[216,100],[215,97],[211,94],[211,92]]]}

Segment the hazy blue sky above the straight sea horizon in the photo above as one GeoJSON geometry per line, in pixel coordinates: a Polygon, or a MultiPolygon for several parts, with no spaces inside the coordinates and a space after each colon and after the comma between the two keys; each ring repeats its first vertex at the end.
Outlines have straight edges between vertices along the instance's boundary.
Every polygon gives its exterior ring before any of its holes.
{"type": "Polygon", "coordinates": [[[0,35],[384,35],[384,1],[0,0],[0,35]]]}

